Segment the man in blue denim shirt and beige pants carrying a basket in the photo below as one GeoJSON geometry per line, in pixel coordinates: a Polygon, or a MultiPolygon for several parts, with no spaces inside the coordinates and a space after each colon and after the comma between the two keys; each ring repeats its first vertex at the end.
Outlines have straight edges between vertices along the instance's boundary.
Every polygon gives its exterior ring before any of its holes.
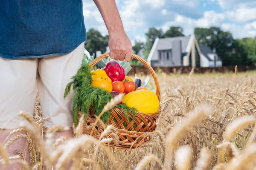
{"type": "MultiPolygon", "coordinates": [[[[131,41],[125,34],[115,0],[94,0],[109,34],[110,57],[131,59],[131,41]]],[[[86,4],[85,4],[86,7],[86,4]]],[[[20,111],[33,116],[38,94],[43,117],[49,127],[68,126],[64,135],[73,137],[72,94],[64,99],[64,89],[79,69],[86,40],[82,0],[5,0],[0,2],[0,139],[12,136],[24,120],[20,111]]],[[[7,149],[24,150],[20,138],[7,149]]],[[[27,151],[28,153],[28,151],[27,151]]],[[[28,154],[27,160],[28,158],[28,154]]],[[[12,164],[7,169],[19,169],[12,164]]]]}

